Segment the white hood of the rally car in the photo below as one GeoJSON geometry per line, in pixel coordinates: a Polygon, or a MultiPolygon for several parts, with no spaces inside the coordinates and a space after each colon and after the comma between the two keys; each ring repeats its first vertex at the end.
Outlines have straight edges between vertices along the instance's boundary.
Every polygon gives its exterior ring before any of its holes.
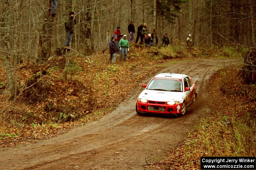
{"type": "Polygon", "coordinates": [[[141,92],[139,98],[152,100],[152,101],[180,101],[184,99],[184,92],[174,92],[174,91],[158,91],[158,90],[147,90],[141,92]]]}

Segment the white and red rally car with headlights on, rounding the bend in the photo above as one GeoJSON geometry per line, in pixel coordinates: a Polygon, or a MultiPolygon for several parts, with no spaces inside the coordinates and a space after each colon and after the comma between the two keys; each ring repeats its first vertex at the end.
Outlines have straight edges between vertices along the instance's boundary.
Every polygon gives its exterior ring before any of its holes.
{"type": "Polygon", "coordinates": [[[196,85],[185,74],[160,73],[142,84],[145,88],[138,97],[136,112],[185,115],[186,108],[195,103],[196,85]]]}

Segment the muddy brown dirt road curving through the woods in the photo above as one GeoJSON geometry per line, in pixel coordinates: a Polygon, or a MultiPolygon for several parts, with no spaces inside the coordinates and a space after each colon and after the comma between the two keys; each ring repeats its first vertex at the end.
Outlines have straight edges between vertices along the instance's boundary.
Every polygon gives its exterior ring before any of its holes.
{"type": "Polygon", "coordinates": [[[197,84],[197,107],[190,108],[184,117],[137,115],[136,100],[143,89],[138,85],[116,110],[97,122],[35,144],[2,150],[0,169],[145,169],[142,165],[163,158],[207,111],[205,82],[226,62],[205,59],[165,63],[168,67],[161,72],[188,74],[197,84]]]}

